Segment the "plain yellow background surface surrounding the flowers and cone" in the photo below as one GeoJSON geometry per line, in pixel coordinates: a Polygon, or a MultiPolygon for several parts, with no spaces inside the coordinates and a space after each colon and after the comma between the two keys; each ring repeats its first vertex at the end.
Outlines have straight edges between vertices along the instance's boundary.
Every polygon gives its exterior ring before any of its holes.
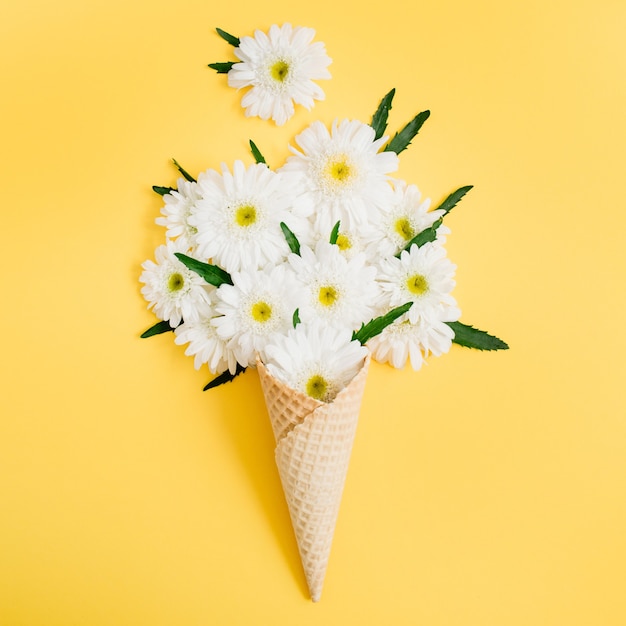
{"type": "Polygon", "coordinates": [[[626,623],[626,4],[25,0],[0,9],[0,624],[626,623]],[[326,100],[246,119],[214,33],[314,27],[326,100]],[[257,375],[203,393],[154,323],[153,184],[272,165],[311,120],[395,131],[462,319],[511,349],[374,365],[322,601],[257,375]]]}

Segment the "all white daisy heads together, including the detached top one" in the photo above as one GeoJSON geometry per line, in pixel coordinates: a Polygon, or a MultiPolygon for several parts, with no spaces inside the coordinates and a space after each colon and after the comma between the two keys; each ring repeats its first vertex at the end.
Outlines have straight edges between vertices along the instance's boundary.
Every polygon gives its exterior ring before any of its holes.
{"type": "MultiPolygon", "coordinates": [[[[292,100],[310,106],[322,97],[312,79],[327,77],[330,59],[322,45],[311,48],[312,37],[287,25],[241,40],[243,62],[228,81],[253,86],[247,114],[282,123],[292,100]]],[[[450,349],[448,323],[460,311],[444,248],[449,231],[439,219],[445,211],[430,210],[415,185],[392,177],[398,155],[387,141],[360,121],[317,121],[295,137],[279,168],[236,161],[197,180],[179,168],[185,177],[163,193],[156,220],[166,243],[156,263],[143,264],[140,281],[149,308],[175,329],[196,368],[235,375],[261,358],[288,385],[331,401],[368,353],[419,369],[429,354],[450,349]],[[426,229],[436,238],[410,245],[426,229]],[[227,280],[209,284],[181,253],[227,280]],[[354,339],[408,303],[365,345],[354,339]]]]}

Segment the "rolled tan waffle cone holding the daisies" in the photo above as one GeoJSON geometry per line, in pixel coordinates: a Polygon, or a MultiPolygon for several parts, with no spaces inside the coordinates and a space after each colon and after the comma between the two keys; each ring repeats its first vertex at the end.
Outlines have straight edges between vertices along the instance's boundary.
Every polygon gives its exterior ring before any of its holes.
{"type": "Polygon", "coordinates": [[[314,602],[322,593],[369,361],[328,404],[288,387],[257,361],[276,465],[314,602]]]}

